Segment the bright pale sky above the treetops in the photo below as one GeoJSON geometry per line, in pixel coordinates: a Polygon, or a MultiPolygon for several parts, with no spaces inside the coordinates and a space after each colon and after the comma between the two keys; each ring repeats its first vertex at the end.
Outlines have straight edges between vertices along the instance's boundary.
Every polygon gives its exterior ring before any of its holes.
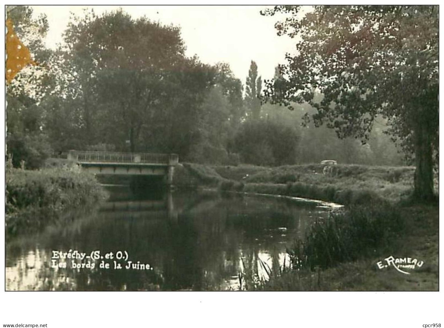
{"type": "Polygon", "coordinates": [[[179,26],[186,45],[186,55],[198,55],[203,63],[230,64],[234,75],[245,83],[251,60],[258,64],[263,79],[274,76],[274,67],[285,63],[285,53],[292,53],[294,40],[277,36],[277,16],[262,16],[264,6],[31,6],[37,16],[48,16],[48,47],[63,42],[70,12],[83,16],[84,8],[96,14],[119,7],[133,18],[147,16],[164,25],[179,26]]]}

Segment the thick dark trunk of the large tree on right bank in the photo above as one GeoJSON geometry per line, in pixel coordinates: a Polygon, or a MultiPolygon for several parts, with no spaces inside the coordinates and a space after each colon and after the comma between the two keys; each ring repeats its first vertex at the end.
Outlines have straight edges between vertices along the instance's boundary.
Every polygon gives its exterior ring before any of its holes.
{"type": "Polygon", "coordinates": [[[427,122],[418,122],[415,138],[415,189],[413,196],[419,201],[431,201],[433,194],[433,157],[431,131],[427,122]]]}

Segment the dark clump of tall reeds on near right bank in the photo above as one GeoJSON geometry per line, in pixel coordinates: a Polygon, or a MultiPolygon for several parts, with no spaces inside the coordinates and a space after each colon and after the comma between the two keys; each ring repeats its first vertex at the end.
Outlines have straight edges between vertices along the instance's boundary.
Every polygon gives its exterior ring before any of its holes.
{"type": "Polygon", "coordinates": [[[327,269],[375,255],[403,229],[396,207],[352,206],[315,221],[304,241],[296,241],[287,253],[293,269],[327,269]]]}

